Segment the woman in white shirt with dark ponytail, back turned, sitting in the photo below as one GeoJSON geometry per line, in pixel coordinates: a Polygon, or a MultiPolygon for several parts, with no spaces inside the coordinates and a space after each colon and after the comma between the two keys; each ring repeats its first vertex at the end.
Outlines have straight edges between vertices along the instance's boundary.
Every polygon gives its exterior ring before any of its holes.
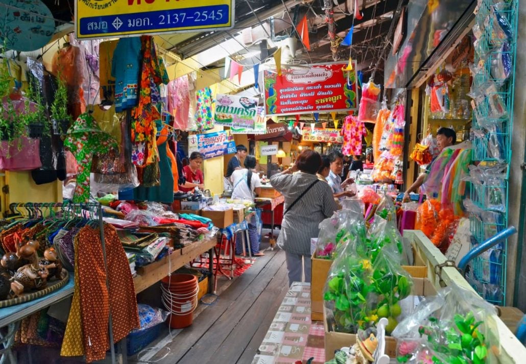
{"type": "MultiPolygon", "coordinates": [[[[256,168],[256,158],[254,156],[245,157],[245,168],[235,170],[230,179],[232,181],[232,198],[233,199],[244,199],[254,202],[254,198],[261,191],[261,180],[259,175],[254,172],[256,168]]],[[[241,254],[242,247],[242,232],[236,236],[236,254],[241,254]]],[[[265,254],[259,251],[259,236],[257,231],[256,216],[252,215],[250,223],[248,223],[248,237],[250,240],[250,252],[254,257],[262,257],[265,254]]]]}

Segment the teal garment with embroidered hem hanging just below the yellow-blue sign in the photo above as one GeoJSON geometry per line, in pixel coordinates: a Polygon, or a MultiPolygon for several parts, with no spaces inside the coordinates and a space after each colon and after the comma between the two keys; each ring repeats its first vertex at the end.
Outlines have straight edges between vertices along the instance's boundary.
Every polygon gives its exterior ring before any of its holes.
{"type": "MultiPolygon", "coordinates": [[[[109,52],[111,46],[107,47],[109,52]]],[[[111,73],[115,78],[115,111],[117,113],[137,105],[140,62],[140,37],[120,38],[113,52],[111,73]]]]}

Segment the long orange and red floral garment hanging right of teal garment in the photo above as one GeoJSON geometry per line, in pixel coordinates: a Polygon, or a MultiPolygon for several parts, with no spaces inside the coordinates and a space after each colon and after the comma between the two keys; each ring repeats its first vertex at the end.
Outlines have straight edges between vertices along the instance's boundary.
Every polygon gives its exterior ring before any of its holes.
{"type": "Polygon", "coordinates": [[[141,63],[139,102],[131,110],[131,160],[138,167],[154,163],[157,158],[155,121],[159,113],[160,93],[158,85],[168,83],[164,63],[159,62],[153,37],[142,36],[143,61],[141,63]]]}

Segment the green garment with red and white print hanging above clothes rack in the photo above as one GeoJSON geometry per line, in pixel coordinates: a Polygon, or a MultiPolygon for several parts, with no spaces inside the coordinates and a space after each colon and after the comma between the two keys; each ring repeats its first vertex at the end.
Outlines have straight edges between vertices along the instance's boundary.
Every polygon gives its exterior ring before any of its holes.
{"type": "Polygon", "coordinates": [[[95,153],[108,153],[118,149],[117,141],[98,127],[90,114],[80,115],[69,128],[64,147],[69,149],[78,163],[77,185],[73,202],[82,203],[89,200],[89,173],[95,153]]]}

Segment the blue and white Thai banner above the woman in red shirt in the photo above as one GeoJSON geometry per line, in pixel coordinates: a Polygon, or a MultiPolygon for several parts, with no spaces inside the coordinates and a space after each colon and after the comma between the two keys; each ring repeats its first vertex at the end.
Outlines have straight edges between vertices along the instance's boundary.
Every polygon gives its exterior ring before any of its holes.
{"type": "Polygon", "coordinates": [[[198,151],[205,159],[236,153],[236,141],[229,130],[188,136],[188,153],[198,151]]]}

